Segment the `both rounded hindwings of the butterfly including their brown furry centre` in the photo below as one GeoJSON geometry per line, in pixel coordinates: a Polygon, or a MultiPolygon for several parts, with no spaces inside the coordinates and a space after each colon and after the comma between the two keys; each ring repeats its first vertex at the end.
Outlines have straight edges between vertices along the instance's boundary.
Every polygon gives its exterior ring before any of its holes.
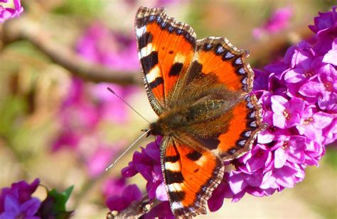
{"type": "Polygon", "coordinates": [[[265,128],[260,104],[250,94],[254,72],[245,62],[247,55],[225,38],[198,40],[181,94],[173,99],[191,104],[191,112],[200,112],[185,131],[223,160],[250,150],[257,133],[265,128]]]}

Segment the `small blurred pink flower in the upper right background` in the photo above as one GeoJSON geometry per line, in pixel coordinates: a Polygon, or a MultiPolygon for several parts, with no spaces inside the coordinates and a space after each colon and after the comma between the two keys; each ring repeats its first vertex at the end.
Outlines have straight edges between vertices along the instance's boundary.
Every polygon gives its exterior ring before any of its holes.
{"type": "Polygon", "coordinates": [[[289,26],[289,21],[292,17],[292,10],[289,7],[277,9],[272,13],[272,16],[261,28],[255,28],[252,32],[253,36],[257,39],[262,38],[264,35],[277,33],[284,30],[289,26]]]}

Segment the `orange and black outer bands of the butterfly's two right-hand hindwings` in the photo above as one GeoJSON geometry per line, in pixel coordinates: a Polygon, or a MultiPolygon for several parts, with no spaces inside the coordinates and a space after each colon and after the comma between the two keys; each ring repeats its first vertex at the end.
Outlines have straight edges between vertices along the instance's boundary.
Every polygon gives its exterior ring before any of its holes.
{"type": "MultiPolygon", "coordinates": [[[[209,37],[197,41],[197,50],[185,86],[195,81],[208,82],[208,89],[221,86],[225,91],[223,99],[230,99],[222,116],[206,123],[192,125],[191,130],[203,130],[207,126],[225,125],[222,133],[200,137],[205,147],[223,160],[230,160],[244,154],[252,146],[257,133],[265,128],[262,123],[261,107],[252,91],[254,72],[245,62],[247,50],[237,50],[225,38],[209,37]],[[213,79],[213,80],[211,80],[213,79]]],[[[191,83],[193,84],[193,83],[191,83]]],[[[207,133],[207,131],[206,131],[207,133]]]]}

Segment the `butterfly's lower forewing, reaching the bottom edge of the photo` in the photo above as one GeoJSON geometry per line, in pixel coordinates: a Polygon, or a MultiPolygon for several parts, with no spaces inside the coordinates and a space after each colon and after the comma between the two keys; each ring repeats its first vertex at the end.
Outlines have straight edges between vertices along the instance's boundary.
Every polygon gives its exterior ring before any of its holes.
{"type": "Polygon", "coordinates": [[[161,148],[161,166],[173,214],[191,217],[206,213],[206,201],[223,179],[221,159],[186,134],[164,137],[161,148]]]}

